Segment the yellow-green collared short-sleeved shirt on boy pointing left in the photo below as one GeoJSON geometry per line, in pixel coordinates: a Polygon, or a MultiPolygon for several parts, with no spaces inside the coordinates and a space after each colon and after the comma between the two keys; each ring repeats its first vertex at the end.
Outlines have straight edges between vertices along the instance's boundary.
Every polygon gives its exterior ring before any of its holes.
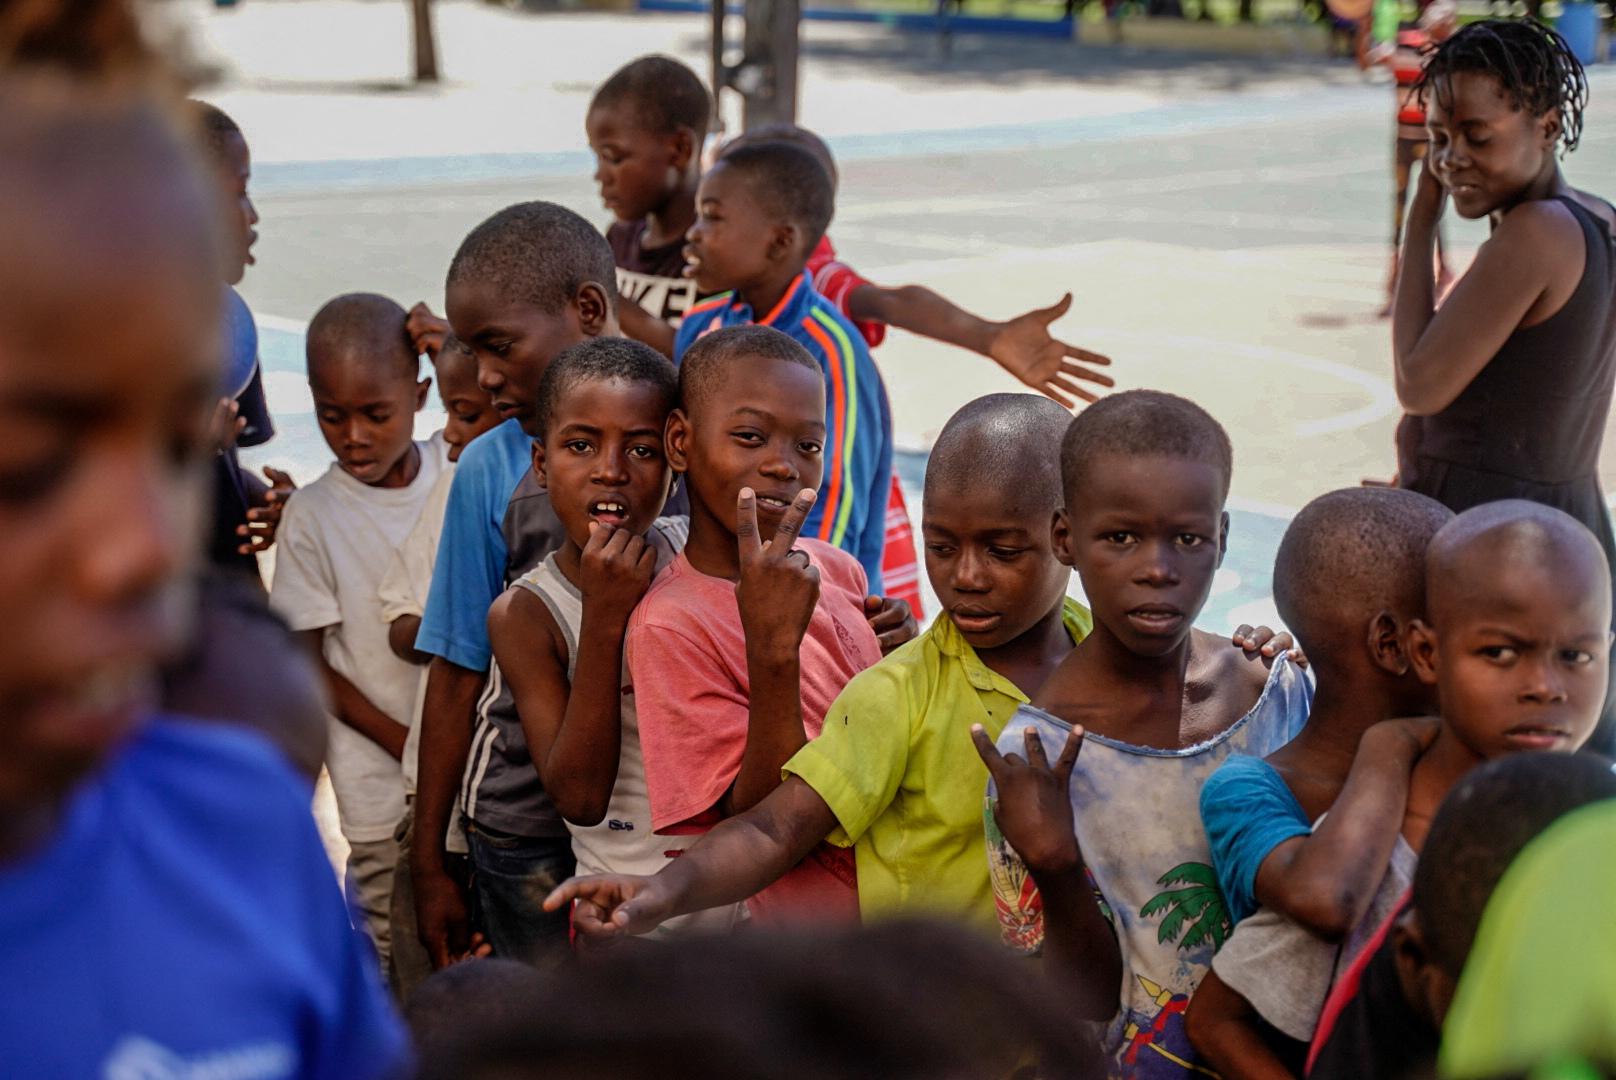
{"type": "MultiPolygon", "coordinates": [[[[1092,629],[1067,600],[1073,642],[1092,629]]],[[[947,614],[831,705],[824,731],[785,763],[835,813],[831,842],[853,847],[863,918],[941,915],[999,931],[987,880],[987,766],[971,724],[997,739],[1026,695],[984,664],[947,614]]]]}

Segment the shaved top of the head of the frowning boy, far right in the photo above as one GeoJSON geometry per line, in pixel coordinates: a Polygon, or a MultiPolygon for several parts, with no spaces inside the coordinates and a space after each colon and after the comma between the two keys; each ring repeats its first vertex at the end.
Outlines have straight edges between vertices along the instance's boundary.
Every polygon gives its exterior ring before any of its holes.
{"type": "Polygon", "coordinates": [[[1611,574],[1605,550],[1571,514],[1503,500],[1467,509],[1432,538],[1425,556],[1432,626],[1495,592],[1503,579],[1538,577],[1556,593],[1593,598],[1610,624],[1611,574]]]}

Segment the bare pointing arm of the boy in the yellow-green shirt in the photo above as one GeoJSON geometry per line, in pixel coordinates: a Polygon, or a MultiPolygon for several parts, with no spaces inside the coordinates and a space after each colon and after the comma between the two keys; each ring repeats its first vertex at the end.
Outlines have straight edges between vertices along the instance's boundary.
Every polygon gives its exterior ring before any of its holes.
{"type": "Polygon", "coordinates": [[[645,933],[675,915],[756,896],[835,825],[819,792],[792,776],[747,813],[721,821],[658,875],[572,878],[549,894],[545,910],[577,901],[572,925],[585,938],[645,933]]]}

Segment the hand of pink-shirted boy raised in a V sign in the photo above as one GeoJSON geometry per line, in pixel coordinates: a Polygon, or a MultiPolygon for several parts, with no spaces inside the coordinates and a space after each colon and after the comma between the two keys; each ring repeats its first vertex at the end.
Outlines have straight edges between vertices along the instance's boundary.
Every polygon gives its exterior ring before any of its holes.
{"type": "Polygon", "coordinates": [[[747,632],[747,652],[779,661],[795,660],[814,605],[819,603],[819,571],[808,553],[793,548],[797,534],[818,496],[811,488],[797,493],[785,508],[774,537],[758,535],[758,496],[742,488],[737,500],[735,542],[740,545],[740,580],[735,603],[747,632]]]}

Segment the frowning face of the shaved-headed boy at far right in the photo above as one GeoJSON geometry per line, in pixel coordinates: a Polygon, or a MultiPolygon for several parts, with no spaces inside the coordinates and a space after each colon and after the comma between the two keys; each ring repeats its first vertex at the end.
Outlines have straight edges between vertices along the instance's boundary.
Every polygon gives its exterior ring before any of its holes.
{"type": "Polygon", "coordinates": [[[1576,750],[1593,734],[1610,585],[1585,571],[1477,546],[1433,589],[1435,624],[1414,627],[1414,664],[1437,686],[1443,724],[1475,755],[1576,750]]]}

